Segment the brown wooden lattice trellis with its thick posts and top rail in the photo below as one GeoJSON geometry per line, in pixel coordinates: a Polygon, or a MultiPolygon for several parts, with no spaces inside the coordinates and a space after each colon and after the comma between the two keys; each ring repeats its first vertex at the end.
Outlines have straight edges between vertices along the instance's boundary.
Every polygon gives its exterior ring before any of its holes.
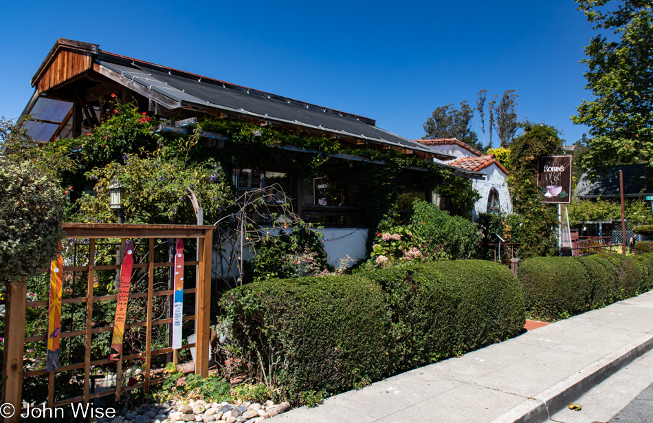
{"type": "MultiPolygon", "coordinates": [[[[122,388],[122,362],[126,360],[142,359],[145,362],[144,382],[133,384],[131,387],[124,389],[144,388],[149,390],[151,384],[162,382],[163,378],[151,378],[150,365],[152,356],[158,354],[168,354],[173,349],[151,349],[152,328],[155,325],[166,325],[172,323],[171,318],[153,320],[152,307],[155,296],[171,296],[173,290],[155,291],[153,288],[154,269],[166,268],[173,266],[173,263],[155,263],[155,239],[166,238],[195,238],[198,239],[197,261],[186,261],[184,266],[197,265],[197,284],[195,288],[184,289],[184,293],[195,294],[195,315],[184,316],[184,321],[195,320],[197,330],[197,342],[194,344],[184,345],[182,348],[195,348],[195,373],[206,377],[208,376],[208,351],[210,343],[210,281],[211,281],[211,260],[212,260],[212,231],[214,226],[186,226],[186,225],[130,225],[130,224],[63,224],[67,238],[89,239],[89,257],[88,265],[84,266],[64,266],[64,272],[87,272],[87,295],[82,298],[63,299],[63,304],[86,303],[86,326],[83,330],[74,332],[61,332],[62,338],[71,336],[85,336],[85,358],[83,362],[71,365],[60,366],[57,371],[48,372],[45,369],[23,372],[23,354],[24,345],[28,342],[46,341],[47,335],[37,334],[25,336],[25,310],[27,307],[38,307],[45,305],[48,301],[26,301],[26,284],[12,283],[8,287],[6,299],[5,314],[5,349],[4,349],[4,376],[5,383],[3,387],[3,402],[12,404],[16,411],[22,408],[22,386],[23,378],[47,375],[48,376],[48,394],[47,406],[64,406],[73,402],[84,402],[85,404],[94,398],[106,395],[115,395],[116,399],[120,398],[122,388]],[[121,360],[115,362],[116,365],[116,382],[115,388],[107,391],[90,393],[91,385],[91,367],[98,365],[108,365],[109,351],[107,358],[101,360],[91,360],[91,336],[103,332],[112,332],[113,325],[103,327],[92,327],[93,322],[93,303],[98,301],[116,300],[118,295],[93,295],[94,272],[100,270],[118,270],[120,265],[96,265],[95,248],[96,239],[148,239],[148,261],[147,263],[135,263],[134,268],[146,268],[148,278],[148,288],[146,292],[135,292],[129,294],[129,299],[146,298],[147,299],[147,316],[143,322],[129,322],[126,329],[130,327],[146,328],[146,343],[144,351],[129,356],[121,356],[121,360]],[[83,394],[74,398],[54,401],[54,373],[63,371],[74,371],[83,369],[84,371],[84,390],[83,394]]],[[[20,413],[15,413],[14,417],[5,420],[6,422],[19,422],[20,413]]]]}

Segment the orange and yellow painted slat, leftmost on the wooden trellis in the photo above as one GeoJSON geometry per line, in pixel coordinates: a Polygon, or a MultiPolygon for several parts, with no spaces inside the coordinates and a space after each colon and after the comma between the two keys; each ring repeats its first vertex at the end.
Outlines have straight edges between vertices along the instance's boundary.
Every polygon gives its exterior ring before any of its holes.
{"type": "Polygon", "coordinates": [[[59,334],[61,332],[61,287],[63,285],[63,246],[59,241],[59,254],[50,264],[50,300],[47,318],[47,353],[45,370],[59,368],[59,334]]]}

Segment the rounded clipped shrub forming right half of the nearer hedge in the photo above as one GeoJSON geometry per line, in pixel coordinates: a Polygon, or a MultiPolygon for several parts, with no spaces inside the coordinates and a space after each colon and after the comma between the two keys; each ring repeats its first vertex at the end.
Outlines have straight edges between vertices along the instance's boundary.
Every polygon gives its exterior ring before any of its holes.
{"type": "Polygon", "coordinates": [[[388,374],[505,340],[524,325],[519,282],[504,265],[439,261],[366,276],[390,312],[388,374]]]}

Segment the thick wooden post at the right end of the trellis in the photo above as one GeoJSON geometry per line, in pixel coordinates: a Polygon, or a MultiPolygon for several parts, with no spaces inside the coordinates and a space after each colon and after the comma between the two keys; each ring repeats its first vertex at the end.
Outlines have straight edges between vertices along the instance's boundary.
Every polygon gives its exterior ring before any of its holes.
{"type": "Polygon", "coordinates": [[[197,284],[197,336],[195,337],[195,374],[206,378],[208,376],[207,354],[210,348],[210,310],[211,310],[211,260],[212,260],[213,232],[207,230],[200,239],[200,248],[203,257],[199,261],[199,279],[197,284]]]}

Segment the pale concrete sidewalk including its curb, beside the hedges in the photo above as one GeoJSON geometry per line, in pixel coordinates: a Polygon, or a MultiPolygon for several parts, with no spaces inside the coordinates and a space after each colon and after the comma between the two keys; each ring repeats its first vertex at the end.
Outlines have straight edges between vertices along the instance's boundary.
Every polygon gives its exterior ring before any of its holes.
{"type": "Polygon", "coordinates": [[[653,347],[653,291],[274,422],[540,423],[653,347]]]}

